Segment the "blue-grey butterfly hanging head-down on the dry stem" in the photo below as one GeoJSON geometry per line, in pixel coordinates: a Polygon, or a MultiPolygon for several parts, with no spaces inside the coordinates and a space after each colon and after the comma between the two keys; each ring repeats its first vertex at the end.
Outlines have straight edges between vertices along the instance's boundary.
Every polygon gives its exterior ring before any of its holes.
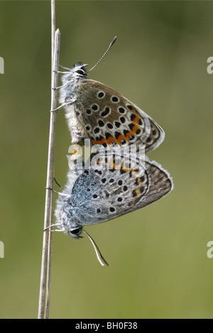
{"type": "Polygon", "coordinates": [[[104,266],[104,260],[84,226],[106,222],[146,207],[173,189],[168,171],[147,157],[140,159],[125,149],[103,149],[82,162],[80,154],[68,156],[67,184],[59,193],[55,227],[78,238],[87,234],[104,266]]]}

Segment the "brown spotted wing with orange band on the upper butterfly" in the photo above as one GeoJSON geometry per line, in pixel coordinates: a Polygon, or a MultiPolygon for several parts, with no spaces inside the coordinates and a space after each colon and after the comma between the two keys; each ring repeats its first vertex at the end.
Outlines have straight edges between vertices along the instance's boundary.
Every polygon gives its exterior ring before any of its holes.
{"type": "Polygon", "coordinates": [[[142,143],[149,152],[164,140],[163,129],[151,117],[98,81],[80,81],[74,108],[84,124],[85,137],[94,145],[126,147],[142,143]]]}

